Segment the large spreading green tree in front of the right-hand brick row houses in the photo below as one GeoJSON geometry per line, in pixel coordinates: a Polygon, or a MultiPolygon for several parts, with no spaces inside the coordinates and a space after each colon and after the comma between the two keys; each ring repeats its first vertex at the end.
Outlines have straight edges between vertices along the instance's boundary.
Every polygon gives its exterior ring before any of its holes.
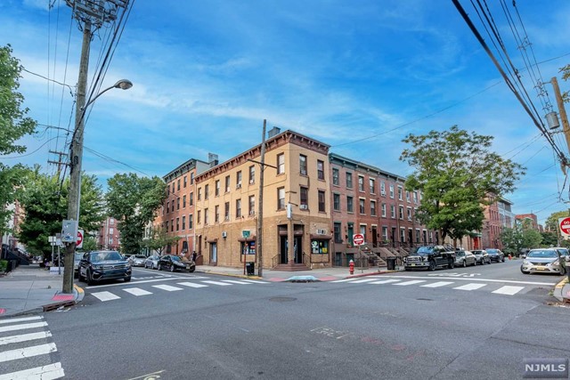
{"type": "Polygon", "coordinates": [[[449,131],[409,134],[411,149],[400,160],[415,169],[406,190],[421,191],[417,219],[439,230],[442,240],[481,230],[485,205],[515,190],[525,168],[490,151],[493,136],[468,133],[453,125],[449,131]]]}

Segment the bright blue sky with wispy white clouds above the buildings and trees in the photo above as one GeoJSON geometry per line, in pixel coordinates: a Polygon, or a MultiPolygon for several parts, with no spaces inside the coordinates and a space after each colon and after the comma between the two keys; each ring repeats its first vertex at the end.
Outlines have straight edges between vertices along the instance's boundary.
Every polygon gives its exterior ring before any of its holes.
{"type": "MultiPolygon", "coordinates": [[[[550,78],[570,89],[559,74],[570,63],[570,2],[487,3],[546,123],[543,106],[558,110],[550,78]],[[517,31],[526,33],[525,52],[538,62],[548,96],[538,96],[501,4],[520,16],[517,31]]],[[[460,4],[491,44],[470,2],[460,4]]],[[[109,28],[94,36],[89,83],[108,36],[109,28]]],[[[27,70],[19,91],[38,122],[37,133],[20,141],[27,152],[0,162],[55,173],[48,160],[58,157],[49,150],[67,152],[67,133],[45,125],[73,126],[81,43],[63,0],[0,3],[0,45],[11,44],[27,70]]],[[[406,176],[413,171],[399,160],[406,135],[458,125],[493,136],[493,151],[526,167],[505,195],[515,214],[544,222],[569,206],[553,149],[452,0],[136,0],[102,88],[121,78],[133,88],[102,94],[85,123],[83,169],[103,187],[118,173],[162,177],[190,158],[208,160],[208,152],[223,162],[261,142],[264,119],[268,130],[291,129],[406,176]]],[[[553,139],[568,155],[563,134],[553,139]]]]}

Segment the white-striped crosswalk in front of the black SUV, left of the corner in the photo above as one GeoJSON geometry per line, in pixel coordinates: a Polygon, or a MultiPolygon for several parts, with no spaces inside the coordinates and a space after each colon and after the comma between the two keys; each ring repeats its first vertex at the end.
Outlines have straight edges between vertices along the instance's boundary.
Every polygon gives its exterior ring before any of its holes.
{"type": "MultiPolygon", "coordinates": [[[[142,282],[142,281],[141,281],[142,282]]],[[[148,284],[149,281],[144,282],[145,285],[148,284]]],[[[159,284],[159,285],[150,285],[146,289],[143,289],[139,286],[136,286],[136,283],[131,283],[129,287],[121,287],[117,290],[104,290],[104,291],[94,291],[90,292],[90,295],[93,295],[99,301],[107,302],[113,301],[123,298],[124,296],[143,296],[143,295],[153,295],[159,292],[176,292],[176,291],[183,291],[185,289],[199,289],[203,287],[231,287],[231,286],[243,286],[243,285],[254,285],[254,284],[270,284],[267,281],[255,280],[255,279],[221,279],[221,280],[211,280],[211,279],[202,279],[199,281],[183,281],[183,282],[175,282],[174,285],[167,285],[167,284],[159,284]]],[[[92,287],[95,290],[97,287],[92,287]]]]}

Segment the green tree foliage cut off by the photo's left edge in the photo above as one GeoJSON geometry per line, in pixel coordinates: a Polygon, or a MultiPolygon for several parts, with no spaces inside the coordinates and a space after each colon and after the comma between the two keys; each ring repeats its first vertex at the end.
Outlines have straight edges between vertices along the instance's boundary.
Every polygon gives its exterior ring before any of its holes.
{"type": "MultiPolygon", "coordinates": [[[[0,155],[23,153],[26,147],[16,141],[33,133],[36,121],[26,117],[28,109],[22,109],[24,97],[17,90],[20,87],[20,61],[12,57],[10,44],[0,47],[0,155]]],[[[5,166],[0,163],[0,235],[12,211],[7,206],[18,198],[22,184],[24,166],[5,166]]]]}

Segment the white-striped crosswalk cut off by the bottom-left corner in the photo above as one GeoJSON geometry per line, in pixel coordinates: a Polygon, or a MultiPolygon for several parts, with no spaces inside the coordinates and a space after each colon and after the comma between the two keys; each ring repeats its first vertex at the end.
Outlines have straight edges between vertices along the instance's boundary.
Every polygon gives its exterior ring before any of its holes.
{"type": "Polygon", "coordinates": [[[0,319],[0,380],[63,377],[61,363],[52,362],[57,347],[51,338],[41,316],[0,319]]]}

